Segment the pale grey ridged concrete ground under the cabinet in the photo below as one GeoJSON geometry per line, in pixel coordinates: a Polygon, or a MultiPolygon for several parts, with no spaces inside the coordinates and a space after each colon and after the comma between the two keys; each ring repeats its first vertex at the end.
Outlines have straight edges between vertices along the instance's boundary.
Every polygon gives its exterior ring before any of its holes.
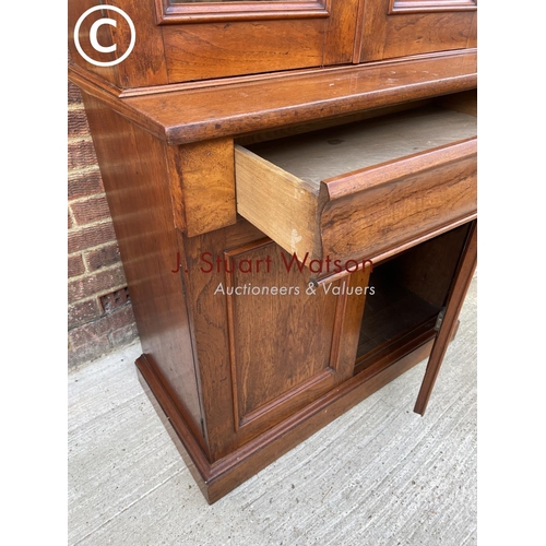
{"type": "Polygon", "coordinates": [[[477,544],[476,278],[425,417],[422,363],[210,507],[138,379],[69,373],[69,544],[477,544]]]}

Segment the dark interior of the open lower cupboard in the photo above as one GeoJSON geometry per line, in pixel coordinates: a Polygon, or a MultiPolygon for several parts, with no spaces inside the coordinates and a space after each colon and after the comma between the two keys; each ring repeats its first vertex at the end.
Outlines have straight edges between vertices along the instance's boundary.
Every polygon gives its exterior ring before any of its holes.
{"type": "Polygon", "coordinates": [[[434,337],[468,224],[373,266],[364,308],[355,373],[373,373],[434,337]]]}

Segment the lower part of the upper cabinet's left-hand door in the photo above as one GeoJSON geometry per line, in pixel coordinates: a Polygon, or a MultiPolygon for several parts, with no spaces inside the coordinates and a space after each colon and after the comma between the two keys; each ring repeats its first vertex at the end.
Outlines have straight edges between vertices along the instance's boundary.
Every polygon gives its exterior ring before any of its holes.
{"type": "Polygon", "coordinates": [[[170,83],[353,61],[358,0],[171,2],[162,10],[170,83]]]}

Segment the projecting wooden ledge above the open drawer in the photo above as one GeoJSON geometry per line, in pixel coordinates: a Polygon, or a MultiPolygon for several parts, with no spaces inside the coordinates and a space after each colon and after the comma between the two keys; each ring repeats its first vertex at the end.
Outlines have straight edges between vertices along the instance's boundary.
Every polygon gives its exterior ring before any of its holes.
{"type": "Polygon", "coordinates": [[[334,118],[363,109],[474,88],[476,52],[462,51],[364,67],[287,73],[211,87],[116,99],[71,71],[72,81],[169,144],[183,144],[334,118]],[[214,105],[214,112],[211,112],[214,105]]]}

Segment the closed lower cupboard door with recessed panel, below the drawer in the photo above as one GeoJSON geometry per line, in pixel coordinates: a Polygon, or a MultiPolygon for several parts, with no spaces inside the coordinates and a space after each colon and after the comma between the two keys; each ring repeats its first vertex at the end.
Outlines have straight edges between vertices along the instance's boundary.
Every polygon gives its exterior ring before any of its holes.
{"type": "Polygon", "coordinates": [[[270,239],[224,257],[234,269],[225,289],[235,428],[246,441],[353,376],[351,332],[369,271],[309,289],[309,276],[270,239]]]}

